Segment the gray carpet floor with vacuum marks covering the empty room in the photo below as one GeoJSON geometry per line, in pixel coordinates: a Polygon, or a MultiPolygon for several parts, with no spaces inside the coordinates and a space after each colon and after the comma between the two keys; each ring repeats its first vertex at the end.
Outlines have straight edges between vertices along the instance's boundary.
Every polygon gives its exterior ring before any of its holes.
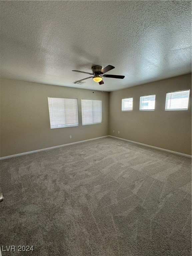
{"type": "Polygon", "coordinates": [[[191,256],[189,158],[106,137],[0,164],[0,245],[34,249],[3,256],[191,256]]]}

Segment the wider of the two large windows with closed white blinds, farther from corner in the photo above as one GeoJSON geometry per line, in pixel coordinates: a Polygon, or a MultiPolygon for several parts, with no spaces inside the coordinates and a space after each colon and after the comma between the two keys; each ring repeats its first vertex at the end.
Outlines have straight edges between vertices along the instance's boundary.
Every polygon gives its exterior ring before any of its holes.
{"type": "Polygon", "coordinates": [[[78,126],[77,99],[48,97],[48,103],[51,128],[78,126]]]}

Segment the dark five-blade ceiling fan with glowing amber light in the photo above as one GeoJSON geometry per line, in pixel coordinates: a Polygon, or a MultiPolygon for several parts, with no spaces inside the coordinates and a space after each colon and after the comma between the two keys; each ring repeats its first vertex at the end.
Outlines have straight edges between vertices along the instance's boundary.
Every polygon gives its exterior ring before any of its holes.
{"type": "Polygon", "coordinates": [[[99,84],[104,84],[103,83],[103,77],[111,77],[111,78],[119,78],[119,79],[123,79],[125,76],[117,76],[117,75],[103,75],[106,72],[114,69],[115,67],[108,65],[105,68],[102,69],[102,66],[93,66],[91,69],[93,71],[93,73],[88,73],[88,72],[84,72],[84,71],[79,71],[79,70],[72,70],[75,72],[80,72],[80,73],[85,73],[85,74],[89,74],[89,75],[93,75],[93,76],[89,76],[87,78],[83,78],[81,80],[75,81],[75,83],[77,82],[81,82],[85,79],[88,78],[93,78],[93,81],[98,82],[99,84]]]}

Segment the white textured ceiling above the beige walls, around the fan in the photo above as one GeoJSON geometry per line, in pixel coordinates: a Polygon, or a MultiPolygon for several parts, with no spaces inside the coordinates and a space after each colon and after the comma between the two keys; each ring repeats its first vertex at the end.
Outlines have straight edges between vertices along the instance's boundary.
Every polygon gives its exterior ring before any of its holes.
{"type": "Polygon", "coordinates": [[[191,72],[191,1],[0,1],[1,77],[103,91],[191,72]]]}

